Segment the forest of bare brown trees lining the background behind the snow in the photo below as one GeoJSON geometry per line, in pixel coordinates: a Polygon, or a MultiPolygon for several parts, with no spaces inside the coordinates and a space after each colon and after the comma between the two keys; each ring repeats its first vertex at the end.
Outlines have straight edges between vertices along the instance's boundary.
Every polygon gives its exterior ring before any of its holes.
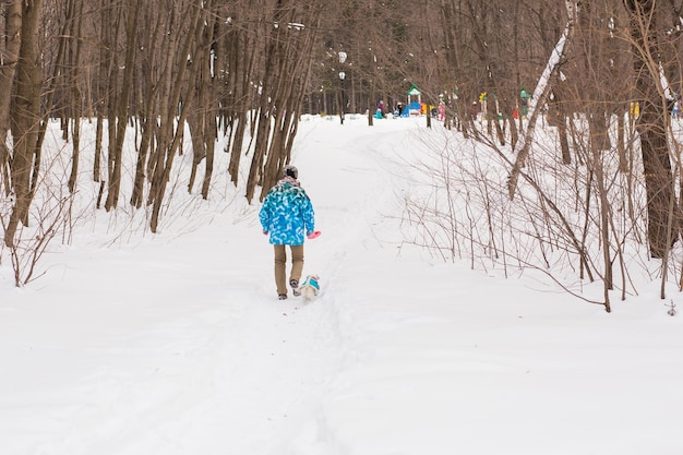
{"type": "Polygon", "coordinates": [[[606,289],[623,252],[615,211],[632,226],[646,219],[642,241],[663,264],[680,237],[683,170],[670,112],[683,91],[683,0],[7,0],[0,8],[7,248],[29,224],[50,121],[59,121],[70,145],[65,193],[77,179],[98,182],[98,207],[147,207],[155,232],[185,127],[187,190],[211,197],[215,154],[227,153],[235,184],[240,161],[250,159],[245,197],[259,200],[289,161],[302,113],[369,112],[371,125],[378,100],[405,101],[411,85],[426,103],[445,104],[447,129],[503,157],[511,203],[524,188],[537,191],[582,275],[599,271],[606,289]],[[534,93],[528,117],[523,88],[534,93]],[[475,116],[482,93],[487,112],[475,116]],[[83,121],[96,124],[87,147],[83,121]],[[546,122],[556,129],[556,149],[534,141],[546,122]],[[131,134],[136,167],[123,201],[131,134]],[[215,147],[219,134],[229,137],[225,149],[215,147]],[[80,167],[84,154],[94,157],[87,171],[80,167]],[[576,232],[539,184],[538,155],[585,171],[574,191],[586,201],[586,226],[595,224],[601,239],[601,265],[587,251],[587,229],[576,232]],[[618,176],[623,207],[609,196],[618,176]],[[644,212],[632,200],[638,182],[644,212]]]}

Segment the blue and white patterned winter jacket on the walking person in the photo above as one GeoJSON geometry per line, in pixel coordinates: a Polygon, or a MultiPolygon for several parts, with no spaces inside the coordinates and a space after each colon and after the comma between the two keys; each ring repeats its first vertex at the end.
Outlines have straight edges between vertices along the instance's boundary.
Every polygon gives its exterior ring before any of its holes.
{"type": "Polygon", "coordinates": [[[259,213],[261,227],[272,244],[302,244],[315,229],[313,204],[299,182],[285,177],[273,187],[259,213]]]}

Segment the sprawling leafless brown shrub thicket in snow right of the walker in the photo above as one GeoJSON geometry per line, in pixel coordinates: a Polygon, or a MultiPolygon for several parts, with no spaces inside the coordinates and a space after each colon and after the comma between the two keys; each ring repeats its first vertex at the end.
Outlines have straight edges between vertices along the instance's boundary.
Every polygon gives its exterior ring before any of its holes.
{"type": "MultiPolygon", "coordinates": [[[[420,189],[406,200],[406,238],[442,260],[467,259],[472,267],[502,268],[505,276],[540,271],[577,295],[582,283],[607,280],[606,271],[619,264],[621,279],[612,286],[624,295],[636,292],[628,267],[634,256],[647,263],[636,236],[645,220],[636,216],[634,226],[625,207],[631,199],[635,213],[644,213],[642,187],[624,184],[614,154],[600,160],[602,185],[590,168],[562,164],[554,131],[540,130],[534,159],[511,201],[505,180],[510,151],[444,129],[439,142],[430,143],[430,156],[415,166],[420,189]],[[601,200],[609,201],[607,224],[601,200]],[[609,229],[607,240],[602,226],[609,229]]],[[[576,143],[580,147],[578,137],[576,143]]]]}

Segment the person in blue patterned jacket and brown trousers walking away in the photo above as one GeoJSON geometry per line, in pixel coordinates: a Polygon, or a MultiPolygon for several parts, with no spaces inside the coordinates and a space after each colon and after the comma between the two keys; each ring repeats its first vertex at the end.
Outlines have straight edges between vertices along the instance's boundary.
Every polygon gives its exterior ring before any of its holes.
{"type": "Polygon", "coordinates": [[[315,230],[315,213],[305,190],[299,183],[299,170],[285,166],[283,179],[268,190],[259,212],[264,235],[275,249],[275,286],[280,300],[287,299],[287,250],[291,252],[289,286],[295,296],[303,271],[304,235],[309,239],[320,236],[315,230]]]}

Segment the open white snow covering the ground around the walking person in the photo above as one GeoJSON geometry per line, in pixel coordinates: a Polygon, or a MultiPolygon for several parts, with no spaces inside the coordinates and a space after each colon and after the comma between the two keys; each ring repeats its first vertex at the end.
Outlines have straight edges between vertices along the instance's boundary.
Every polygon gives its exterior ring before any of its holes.
{"type": "Polygon", "coordinates": [[[84,216],[24,288],[5,252],[0,454],[683,453],[683,327],[657,284],[608,314],[402,242],[423,123],[302,121],[310,304],[277,300],[259,202],[229,184],[179,184],[157,235],[84,216]]]}

